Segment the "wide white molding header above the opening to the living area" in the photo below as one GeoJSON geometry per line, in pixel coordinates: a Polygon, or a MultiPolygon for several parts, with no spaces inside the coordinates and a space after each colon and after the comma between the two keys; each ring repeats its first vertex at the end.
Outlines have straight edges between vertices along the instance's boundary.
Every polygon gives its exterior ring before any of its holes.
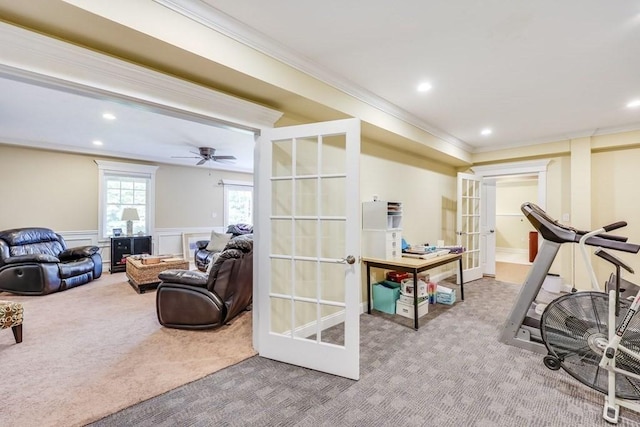
{"type": "Polygon", "coordinates": [[[282,116],[279,111],[3,22],[0,44],[4,77],[141,103],[256,134],[273,127],[282,116]]]}

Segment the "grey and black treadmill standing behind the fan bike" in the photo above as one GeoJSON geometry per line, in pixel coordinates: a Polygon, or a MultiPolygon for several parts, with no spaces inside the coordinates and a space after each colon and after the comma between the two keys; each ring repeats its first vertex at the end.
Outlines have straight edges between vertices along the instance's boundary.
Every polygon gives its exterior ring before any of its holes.
{"type": "MultiPolygon", "coordinates": [[[[540,334],[540,315],[535,312],[535,300],[540,288],[549,273],[551,264],[558,254],[560,246],[564,243],[578,243],[580,238],[588,231],[577,230],[573,227],[560,224],[551,218],[537,205],[526,202],[520,207],[525,217],[542,236],[542,245],[538,251],[529,274],[525,279],[516,302],[507,318],[500,342],[547,354],[547,348],[542,342],[540,334]]],[[[640,245],[627,243],[626,237],[600,234],[591,237],[585,242],[589,246],[613,249],[629,253],[638,253],[640,245]]],[[[637,292],[637,286],[625,282],[629,287],[628,292],[637,292]]],[[[635,295],[635,293],[634,293],[635,295]]]]}

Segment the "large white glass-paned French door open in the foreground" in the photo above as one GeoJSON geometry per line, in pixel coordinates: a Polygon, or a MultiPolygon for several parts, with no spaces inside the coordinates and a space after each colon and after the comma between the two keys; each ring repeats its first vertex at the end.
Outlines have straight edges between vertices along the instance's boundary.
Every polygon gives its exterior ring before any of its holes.
{"type": "Polygon", "coordinates": [[[358,379],[360,121],[267,129],[257,144],[259,354],[358,379]]]}

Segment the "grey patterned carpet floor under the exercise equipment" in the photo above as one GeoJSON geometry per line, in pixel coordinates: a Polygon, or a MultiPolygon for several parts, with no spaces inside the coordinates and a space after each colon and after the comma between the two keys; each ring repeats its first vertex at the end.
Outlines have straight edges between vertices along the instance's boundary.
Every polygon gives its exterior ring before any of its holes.
{"type": "MultiPolygon", "coordinates": [[[[436,305],[418,331],[362,315],[359,381],[256,356],[92,426],[609,425],[599,393],[498,342],[519,289],[469,283],[464,302],[436,305]]],[[[618,425],[640,415],[623,409],[618,425]]]]}

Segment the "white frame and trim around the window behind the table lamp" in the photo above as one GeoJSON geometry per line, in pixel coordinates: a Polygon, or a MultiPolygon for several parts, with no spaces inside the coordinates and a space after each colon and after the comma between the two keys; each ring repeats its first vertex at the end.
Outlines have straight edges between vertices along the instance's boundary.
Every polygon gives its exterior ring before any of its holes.
{"type": "Polygon", "coordinates": [[[153,235],[155,232],[155,185],[156,171],[158,166],[141,165],[137,163],[111,162],[106,160],[95,160],[98,165],[98,241],[106,242],[112,236],[103,235],[103,228],[106,222],[107,208],[107,188],[106,180],[108,175],[121,175],[131,178],[146,178],[149,180],[146,197],[146,235],[153,235]]]}

